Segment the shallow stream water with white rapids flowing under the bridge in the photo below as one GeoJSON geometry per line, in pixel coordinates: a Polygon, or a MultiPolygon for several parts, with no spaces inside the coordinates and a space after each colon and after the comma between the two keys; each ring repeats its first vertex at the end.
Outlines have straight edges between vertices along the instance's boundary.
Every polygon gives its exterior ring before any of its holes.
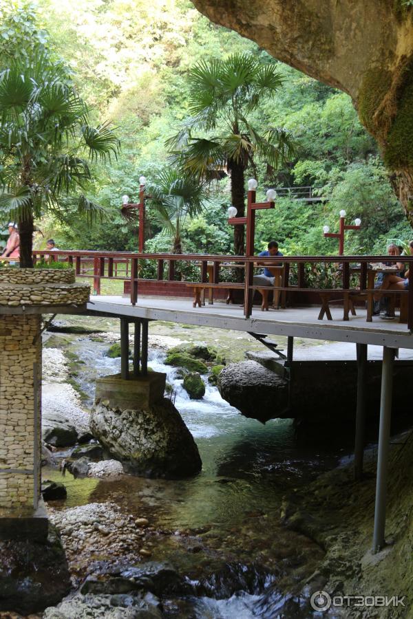
{"type": "MultiPolygon", "coordinates": [[[[76,338],[83,362],[78,378],[92,404],[94,380],[120,371],[120,359],[105,356],[108,345],[76,338]]],[[[167,600],[167,616],[194,618],[307,617],[294,598],[299,580],[314,571],[323,552],[306,536],[282,525],[285,495],[294,495],[351,451],[352,437],[299,439],[292,420],[265,426],[222,400],[204,376],[202,400],[190,400],[165,353],[152,350],[149,365],[167,373],[172,400],[198,444],[202,472],[192,479],[116,480],[66,476],[62,507],[114,501],[125,513],[148,517],[160,532],[152,559],[170,561],[187,574],[195,595],[167,600]],[[162,531],[165,533],[162,535],[162,531]],[[282,596],[281,590],[290,591],[282,596]],[[282,614],[279,614],[282,613],[282,614]]],[[[59,473],[47,471],[57,479],[59,473]]]]}

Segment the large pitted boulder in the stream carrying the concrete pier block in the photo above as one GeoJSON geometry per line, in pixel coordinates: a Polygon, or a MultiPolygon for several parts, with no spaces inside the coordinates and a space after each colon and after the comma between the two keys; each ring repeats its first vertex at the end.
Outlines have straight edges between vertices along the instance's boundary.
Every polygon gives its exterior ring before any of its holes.
{"type": "Polygon", "coordinates": [[[90,428],[109,453],[135,473],[173,479],[200,471],[198,447],[171,400],[124,411],[105,404],[95,404],[90,428]]]}

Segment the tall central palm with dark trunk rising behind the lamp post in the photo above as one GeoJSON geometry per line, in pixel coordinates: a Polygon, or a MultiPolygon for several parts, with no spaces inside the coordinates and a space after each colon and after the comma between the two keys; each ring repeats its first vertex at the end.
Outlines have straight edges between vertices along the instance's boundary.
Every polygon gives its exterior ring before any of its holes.
{"type": "MultiPolygon", "coordinates": [[[[200,61],[191,69],[189,86],[191,117],[167,146],[173,159],[200,178],[217,178],[216,168],[225,164],[231,175],[231,201],[237,217],[242,217],[246,171],[255,171],[255,162],[262,160],[271,173],[293,155],[286,131],[268,127],[260,133],[248,118],[277,93],[282,75],[274,64],[251,54],[233,54],[226,60],[200,61]]],[[[234,247],[235,254],[244,253],[244,226],[234,226],[234,247]]]]}

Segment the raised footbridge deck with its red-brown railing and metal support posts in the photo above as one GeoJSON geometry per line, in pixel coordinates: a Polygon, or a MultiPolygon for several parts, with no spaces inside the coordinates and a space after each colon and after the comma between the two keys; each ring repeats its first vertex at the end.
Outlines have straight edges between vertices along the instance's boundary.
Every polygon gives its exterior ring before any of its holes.
{"type": "MultiPolygon", "coordinates": [[[[34,257],[40,258],[47,252],[35,252],[34,257]]],[[[399,348],[413,349],[413,286],[399,293],[386,290],[386,296],[404,296],[407,301],[407,322],[380,323],[367,322],[366,310],[357,308],[357,316],[348,316],[337,310],[332,310],[331,320],[320,321],[318,310],[314,307],[288,307],[288,301],[293,301],[295,293],[301,290],[314,290],[308,285],[308,273],[317,265],[335,265],[337,268],[337,287],[334,292],[341,294],[344,303],[348,295],[358,293],[374,293],[369,290],[368,272],[370,265],[388,261],[388,256],[330,256],[330,257],[283,257],[260,258],[260,263],[268,267],[283,264],[284,273],[282,290],[286,294],[286,307],[273,312],[257,312],[253,307],[253,285],[255,257],[245,256],[212,256],[209,254],[125,254],[110,252],[52,252],[52,259],[63,259],[74,265],[78,277],[92,277],[95,296],[87,307],[63,307],[64,313],[83,313],[99,316],[120,318],[122,373],[129,373],[129,323],[136,325],[134,372],[139,374],[147,370],[148,324],[152,320],[164,320],[176,323],[189,323],[219,329],[235,329],[255,334],[275,334],[288,338],[288,360],[293,360],[293,338],[310,338],[330,341],[345,341],[354,343],[357,347],[357,411],[354,448],[354,475],[361,478],[363,470],[363,453],[365,446],[366,413],[367,413],[367,359],[368,345],[383,347],[383,362],[381,373],[381,404],[379,425],[379,448],[377,457],[377,486],[374,512],[374,532],[372,550],[379,552],[385,547],[385,503],[388,484],[388,451],[390,446],[390,421],[392,416],[392,388],[394,374],[394,358],[399,348]],[[194,272],[198,272],[198,284],[209,279],[209,265],[212,265],[211,278],[217,286],[225,285],[222,277],[231,265],[244,269],[244,283],[240,285],[244,293],[244,312],[239,305],[218,304],[191,307],[189,300],[165,298],[157,295],[154,298],[139,296],[140,283],[144,281],[145,268],[148,263],[155,263],[156,281],[162,284],[166,277],[170,283],[176,281],[178,266],[182,262],[191,263],[194,272]],[[120,269],[123,268],[122,272],[120,269]],[[309,271],[308,271],[309,268],[309,271]],[[357,278],[357,283],[351,280],[357,278]],[[118,295],[101,294],[101,283],[109,280],[130,281],[128,298],[118,295]],[[293,284],[293,285],[292,285],[293,284]],[[343,319],[344,318],[344,319],[343,319]]],[[[409,266],[413,256],[403,257],[409,266]]],[[[195,282],[192,282],[195,283],[195,282]]],[[[275,287],[277,289],[277,287],[275,287]]],[[[321,290],[321,289],[319,289],[321,290]]],[[[0,308],[1,313],[8,310],[16,313],[16,308],[0,308]]],[[[58,307],[20,308],[28,314],[59,313],[58,307]]]]}

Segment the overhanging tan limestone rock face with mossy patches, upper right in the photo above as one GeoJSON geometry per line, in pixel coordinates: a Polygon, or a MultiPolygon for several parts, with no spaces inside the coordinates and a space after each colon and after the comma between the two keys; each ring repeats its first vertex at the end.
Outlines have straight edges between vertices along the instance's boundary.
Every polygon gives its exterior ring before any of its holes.
{"type": "Polygon", "coordinates": [[[413,225],[413,8],[402,0],[193,0],[280,61],[347,92],[413,225]]]}

